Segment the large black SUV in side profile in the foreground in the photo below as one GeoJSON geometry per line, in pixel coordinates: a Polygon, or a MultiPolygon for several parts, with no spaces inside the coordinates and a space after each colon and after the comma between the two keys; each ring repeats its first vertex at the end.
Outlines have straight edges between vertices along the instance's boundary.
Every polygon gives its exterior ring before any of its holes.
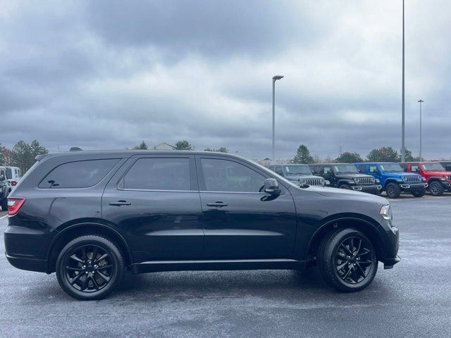
{"type": "Polygon", "coordinates": [[[301,269],[367,287],[392,268],[398,230],[380,196],[301,188],[257,163],[194,151],[80,151],[37,157],[8,197],[16,268],[56,272],[100,299],[132,273],[301,269]]]}

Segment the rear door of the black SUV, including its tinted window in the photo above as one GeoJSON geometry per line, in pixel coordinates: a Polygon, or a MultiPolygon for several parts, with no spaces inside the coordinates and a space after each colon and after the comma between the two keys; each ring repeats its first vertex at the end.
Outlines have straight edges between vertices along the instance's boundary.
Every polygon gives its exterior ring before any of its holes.
{"type": "Polygon", "coordinates": [[[102,217],[121,229],[135,262],[202,256],[194,156],[132,156],[110,180],[102,217]]]}

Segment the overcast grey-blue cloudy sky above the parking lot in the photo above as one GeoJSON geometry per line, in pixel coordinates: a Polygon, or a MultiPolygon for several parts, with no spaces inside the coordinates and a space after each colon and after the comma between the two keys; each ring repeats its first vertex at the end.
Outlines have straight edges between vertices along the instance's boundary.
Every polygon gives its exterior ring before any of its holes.
{"type": "MultiPolygon", "coordinates": [[[[451,3],[406,1],[406,146],[451,157],[451,3]]],[[[401,146],[402,1],[0,0],[0,142],[401,146]]]]}

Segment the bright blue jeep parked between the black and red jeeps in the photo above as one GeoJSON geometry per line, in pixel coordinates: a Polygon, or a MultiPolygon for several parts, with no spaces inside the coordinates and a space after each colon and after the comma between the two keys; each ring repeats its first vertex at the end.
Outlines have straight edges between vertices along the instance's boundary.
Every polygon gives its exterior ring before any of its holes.
{"type": "Polygon", "coordinates": [[[428,184],[418,174],[404,173],[398,163],[366,162],[354,163],[362,174],[371,175],[381,181],[382,191],[390,199],[397,199],[401,192],[410,192],[415,197],[424,196],[428,184]]]}

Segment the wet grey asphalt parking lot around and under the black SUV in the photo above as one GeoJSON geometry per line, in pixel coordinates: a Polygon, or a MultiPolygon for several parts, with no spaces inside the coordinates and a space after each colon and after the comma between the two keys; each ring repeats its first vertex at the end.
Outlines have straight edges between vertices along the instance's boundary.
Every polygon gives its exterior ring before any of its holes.
{"type": "Polygon", "coordinates": [[[328,288],[315,268],[209,271],[132,276],[108,299],[82,302],[55,275],[1,255],[0,336],[450,337],[451,196],[391,203],[402,261],[380,264],[354,294],[328,288]]]}

